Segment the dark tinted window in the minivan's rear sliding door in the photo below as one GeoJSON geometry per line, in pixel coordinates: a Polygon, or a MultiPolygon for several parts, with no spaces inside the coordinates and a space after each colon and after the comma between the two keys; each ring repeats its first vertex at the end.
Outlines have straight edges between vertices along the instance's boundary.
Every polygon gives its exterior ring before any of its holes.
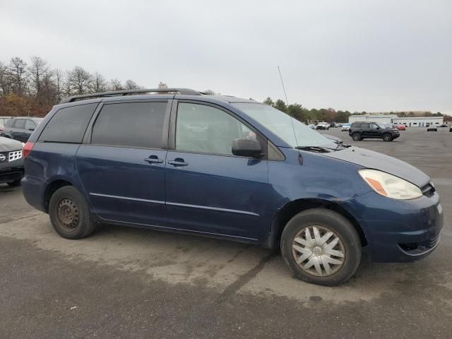
{"type": "Polygon", "coordinates": [[[137,148],[162,148],[166,102],[126,102],[102,107],[91,143],[137,148]]]}

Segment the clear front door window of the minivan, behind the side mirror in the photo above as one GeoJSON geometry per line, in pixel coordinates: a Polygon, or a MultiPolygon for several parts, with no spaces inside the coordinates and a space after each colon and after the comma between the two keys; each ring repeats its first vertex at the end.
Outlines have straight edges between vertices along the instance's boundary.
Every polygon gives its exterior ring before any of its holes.
{"type": "Polygon", "coordinates": [[[221,109],[179,103],[176,150],[232,155],[232,141],[235,138],[256,138],[256,133],[221,109]]]}

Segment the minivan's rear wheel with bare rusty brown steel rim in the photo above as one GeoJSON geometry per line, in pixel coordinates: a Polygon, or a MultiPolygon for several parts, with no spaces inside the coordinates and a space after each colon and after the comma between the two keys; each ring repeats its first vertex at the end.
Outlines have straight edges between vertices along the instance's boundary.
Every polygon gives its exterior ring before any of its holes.
{"type": "Polygon", "coordinates": [[[73,186],[54,192],[49,203],[49,217],[54,230],[66,239],[88,237],[95,230],[85,197],[73,186]]]}

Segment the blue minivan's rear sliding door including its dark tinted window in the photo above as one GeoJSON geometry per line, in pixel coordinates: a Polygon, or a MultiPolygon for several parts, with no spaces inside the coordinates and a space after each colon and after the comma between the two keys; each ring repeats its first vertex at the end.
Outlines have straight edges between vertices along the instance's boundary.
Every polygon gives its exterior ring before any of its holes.
{"type": "Polygon", "coordinates": [[[100,109],[90,143],[81,145],[76,156],[83,187],[100,218],[165,225],[167,105],[121,102],[100,109]]]}

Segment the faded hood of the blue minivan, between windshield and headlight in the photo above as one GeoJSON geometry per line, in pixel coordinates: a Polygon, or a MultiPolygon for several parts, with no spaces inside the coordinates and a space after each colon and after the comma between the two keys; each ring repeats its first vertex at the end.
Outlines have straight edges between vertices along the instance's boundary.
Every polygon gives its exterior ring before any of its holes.
{"type": "Polygon", "coordinates": [[[402,160],[398,160],[395,157],[374,152],[373,150],[349,147],[331,153],[322,153],[322,155],[352,162],[353,164],[369,169],[379,169],[380,171],[405,179],[420,188],[430,182],[429,176],[416,167],[402,160]]]}

